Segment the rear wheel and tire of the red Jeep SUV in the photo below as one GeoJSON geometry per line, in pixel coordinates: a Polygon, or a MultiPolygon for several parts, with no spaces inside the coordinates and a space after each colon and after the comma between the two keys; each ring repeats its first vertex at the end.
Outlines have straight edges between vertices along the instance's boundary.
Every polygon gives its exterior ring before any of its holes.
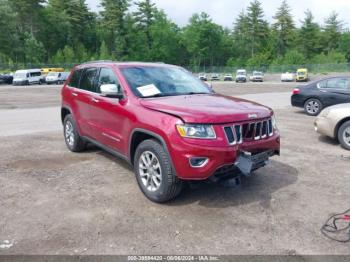
{"type": "Polygon", "coordinates": [[[78,133],[72,115],[67,115],[63,121],[63,135],[68,149],[72,152],[82,152],[86,148],[86,142],[78,133]]]}

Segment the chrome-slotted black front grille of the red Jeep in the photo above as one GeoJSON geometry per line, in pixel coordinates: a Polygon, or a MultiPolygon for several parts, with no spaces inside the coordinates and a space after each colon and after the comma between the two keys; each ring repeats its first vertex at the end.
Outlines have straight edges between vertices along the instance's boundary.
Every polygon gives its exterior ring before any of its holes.
{"type": "Polygon", "coordinates": [[[224,132],[230,145],[242,144],[245,141],[257,141],[273,136],[272,120],[224,126],[224,132]]]}

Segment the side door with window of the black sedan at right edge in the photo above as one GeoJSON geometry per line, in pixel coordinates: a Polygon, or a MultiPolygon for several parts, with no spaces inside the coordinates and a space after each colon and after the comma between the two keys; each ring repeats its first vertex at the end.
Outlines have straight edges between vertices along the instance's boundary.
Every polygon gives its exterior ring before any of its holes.
{"type": "Polygon", "coordinates": [[[335,77],[319,83],[321,99],[325,106],[350,102],[350,78],[335,77]]]}

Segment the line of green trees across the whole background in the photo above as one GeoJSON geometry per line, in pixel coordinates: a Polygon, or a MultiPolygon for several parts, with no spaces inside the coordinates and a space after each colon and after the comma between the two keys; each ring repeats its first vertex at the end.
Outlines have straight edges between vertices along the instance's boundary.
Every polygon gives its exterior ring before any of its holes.
{"type": "Polygon", "coordinates": [[[252,0],[232,28],[197,13],[186,26],[151,0],[0,0],[0,63],[71,64],[88,60],[162,61],[185,66],[350,62],[350,32],[335,12],[323,24],[310,10],[296,26],[286,0],[268,23],[252,0]]]}

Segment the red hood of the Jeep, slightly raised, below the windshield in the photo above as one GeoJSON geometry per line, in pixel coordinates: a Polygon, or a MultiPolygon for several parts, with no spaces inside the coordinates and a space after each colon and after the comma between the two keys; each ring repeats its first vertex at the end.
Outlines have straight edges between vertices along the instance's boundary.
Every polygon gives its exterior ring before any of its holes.
{"type": "Polygon", "coordinates": [[[218,94],[142,99],[148,109],[175,115],[186,123],[223,124],[270,117],[260,104],[218,94]]]}

